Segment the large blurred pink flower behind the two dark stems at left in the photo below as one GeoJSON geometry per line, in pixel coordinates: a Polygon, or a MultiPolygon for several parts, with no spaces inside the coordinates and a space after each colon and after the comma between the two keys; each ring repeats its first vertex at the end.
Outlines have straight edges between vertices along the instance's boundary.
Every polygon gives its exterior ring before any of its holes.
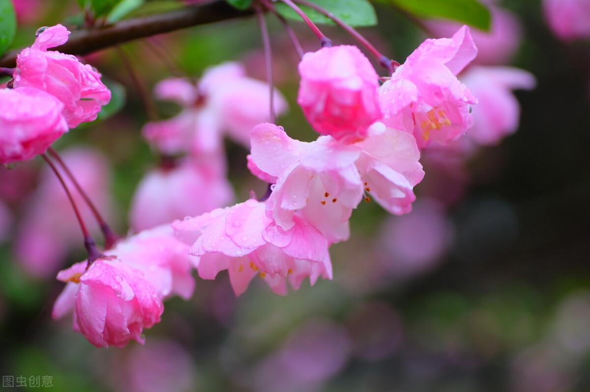
{"type": "MultiPolygon", "coordinates": [[[[87,148],[64,151],[61,156],[103,217],[110,222],[113,202],[109,195],[110,167],[106,158],[87,148]]],[[[100,235],[90,209],[65,173],[62,174],[91,235],[100,235]]],[[[80,227],[70,202],[54,173],[47,168],[22,217],[15,244],[17,258],[28,274],[46,277],[60,268],[71,249],[82,245],[80,227]]]]}

